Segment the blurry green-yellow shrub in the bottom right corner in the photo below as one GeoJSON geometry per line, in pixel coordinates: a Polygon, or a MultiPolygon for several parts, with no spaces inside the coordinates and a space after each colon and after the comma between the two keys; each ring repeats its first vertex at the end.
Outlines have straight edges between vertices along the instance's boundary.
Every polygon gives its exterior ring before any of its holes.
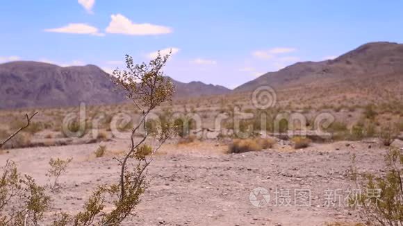
{"type": "Polygon", "coordinates": [[[371,225],[403,225],[403,155],[399,148],[390,148],[385,162],[385,175],[366,173],[362,180],[354,180],[362,192],[350,195],[349,205],[371,225]]]}

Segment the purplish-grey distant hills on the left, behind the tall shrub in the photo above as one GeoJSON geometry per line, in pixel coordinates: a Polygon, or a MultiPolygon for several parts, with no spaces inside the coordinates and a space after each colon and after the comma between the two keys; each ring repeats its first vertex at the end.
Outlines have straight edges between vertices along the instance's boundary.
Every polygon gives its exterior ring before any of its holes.
{"type": "MultiPolygon", "coordinates": [[[[225,94],[230,89],[202,82],[176,85],[175,97],[225,94]]],[[[18,107],[73,106],[119,103],[108,73],[94,65],[59,67],[44,62],[8,62],[0,64],[0,109],[18,107]]]]}

